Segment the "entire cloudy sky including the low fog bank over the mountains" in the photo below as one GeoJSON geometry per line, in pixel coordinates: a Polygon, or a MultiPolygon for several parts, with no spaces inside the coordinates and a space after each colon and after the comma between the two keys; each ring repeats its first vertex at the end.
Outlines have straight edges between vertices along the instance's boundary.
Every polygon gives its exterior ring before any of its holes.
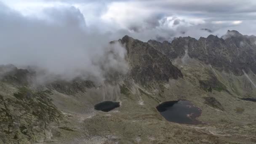
{"type": "Polygon", "coordinates": [[[102,80],[113,69],[127,71],[125,48],[111,40],[171,41],[228,29],[256,34],[256,0],[0,0],[0,64],[102,80]]]}

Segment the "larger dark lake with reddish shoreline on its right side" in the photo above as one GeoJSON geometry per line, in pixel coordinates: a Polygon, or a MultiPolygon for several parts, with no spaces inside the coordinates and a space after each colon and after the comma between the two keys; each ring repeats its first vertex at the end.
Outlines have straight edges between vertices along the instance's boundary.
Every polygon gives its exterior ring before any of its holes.
{"type": "Polygon", "coordinates": [[[189,125],[202,124],[202,122],[196,120],[202,114],[202,110],[195,107],[190,101],[165,101],[156,108],[170,122],[189,125]]]}

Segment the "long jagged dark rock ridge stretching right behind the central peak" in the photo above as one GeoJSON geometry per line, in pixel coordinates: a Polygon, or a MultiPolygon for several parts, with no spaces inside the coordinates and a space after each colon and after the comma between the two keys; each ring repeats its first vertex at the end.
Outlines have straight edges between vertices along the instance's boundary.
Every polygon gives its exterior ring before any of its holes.
{"type": "Polygon", "coordinates": [[[243,75],[243,70],[256,73],[256,37],[228,31],[219,38],[209,35],[196,40],[192,37],[175,38],[172,43],[149,40],[148,43],[170,59],[183,57],[188,51],[190,58],[211,64],[214,68],[243,75]]]}

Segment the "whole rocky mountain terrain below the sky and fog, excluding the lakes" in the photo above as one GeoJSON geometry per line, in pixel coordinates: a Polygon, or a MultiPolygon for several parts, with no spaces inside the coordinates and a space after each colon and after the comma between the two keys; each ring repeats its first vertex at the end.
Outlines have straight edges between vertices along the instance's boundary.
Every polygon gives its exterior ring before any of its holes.
{"type": "Polygon", "coordinates": [[[256,98],[255,36],[233,30],[171,43],[129,36],[111,43],[127,50],[129,70],[100,85],[80,77],[38,84],[32,68],[0,66],[0,144],[256,143],[256,103],[242,100],[256,98]],[[184,109],[201,111],[202,123],[169,122],[157,111],[181,99],[192,104],[184,109]],[[95,110],[102,101],[120,103],[95,110]]]}

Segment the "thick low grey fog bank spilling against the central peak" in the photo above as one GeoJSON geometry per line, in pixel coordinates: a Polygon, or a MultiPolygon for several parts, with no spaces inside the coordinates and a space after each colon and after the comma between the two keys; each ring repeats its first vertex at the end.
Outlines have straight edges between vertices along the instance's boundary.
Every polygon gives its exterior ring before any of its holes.
{"type": "Polygon", "coordinates": [[[0,61],[19,67],[37,66],[62,79],[102,81],[127,72],[125,48],[110,45],[111,35],[91,32],[73,6],[43,9],[43,18],[23,16],[0,5],[0,61]]]}

